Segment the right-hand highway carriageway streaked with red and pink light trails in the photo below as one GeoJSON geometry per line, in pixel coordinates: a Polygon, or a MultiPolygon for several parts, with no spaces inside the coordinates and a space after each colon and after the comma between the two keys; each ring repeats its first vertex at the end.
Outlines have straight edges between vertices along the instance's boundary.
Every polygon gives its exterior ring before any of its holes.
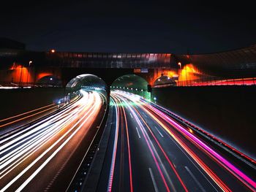
{"type": "Polygon", "coordinates": [[[256,191],[255,175],[147,101],[112,91],[111,102],[114,120],[107,123],[97,191],[256,191]]]}

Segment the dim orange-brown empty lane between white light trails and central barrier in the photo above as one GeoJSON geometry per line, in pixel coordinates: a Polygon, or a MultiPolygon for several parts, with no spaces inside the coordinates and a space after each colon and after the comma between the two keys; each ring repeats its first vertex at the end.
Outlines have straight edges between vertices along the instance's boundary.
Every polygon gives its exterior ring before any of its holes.
{"type": "Polygon", "coordinates": [[[102,115],[99,116],[98,112],[94,113],[91,119],[97,118],[96,122],[92,120],[86,122],[83,128],[69,140],[68,145],[65,145],[56,154],[24,190],[32,191],[37,187],[42,191],[66,191],[80,161],[82,161],[83,155],[97,132],[97,125],[102,120],[102,115]]]}

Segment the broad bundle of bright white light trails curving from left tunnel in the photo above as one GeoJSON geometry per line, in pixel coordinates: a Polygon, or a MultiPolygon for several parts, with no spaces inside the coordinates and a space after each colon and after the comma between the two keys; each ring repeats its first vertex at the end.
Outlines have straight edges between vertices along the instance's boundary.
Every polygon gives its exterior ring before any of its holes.
{"type": "Polygon", "coordinates": [[[26,188],[74,137],[83,137],[78,133],[88,132],[102,108],[102,96],[95,91],[81,92],[83,97],[66,109],[1,140],[1,191],[14,184],[17,191],[26,188]],[[20,179],[25,182],[18,184],[20,179]]]}

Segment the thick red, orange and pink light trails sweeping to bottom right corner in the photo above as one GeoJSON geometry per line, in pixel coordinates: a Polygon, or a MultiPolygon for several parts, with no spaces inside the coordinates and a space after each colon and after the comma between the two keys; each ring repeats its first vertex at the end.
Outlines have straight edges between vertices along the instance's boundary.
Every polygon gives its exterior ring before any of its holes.
{"type": "MultiPolygon", "coordinates": [[[[256,184],[255,181],[249,178],[244,172],[241,172],[236,166],[230,163],[230,161],[227,161],[222,155],[217,153],[214,149],[206,145],[203,141],[201,141],[199,138],[197,138],[194,134],[189,132],[186,128],[182,127],[176,121],[172,120],[170,117],[165,115],[164,112],[158,110],[156,107],[153,107],[152,105],[148,104],[147,101],[139,100],[138,98],[135,98],[131,93],[125,93],[123,91],[115,91],[113,92],[114,95],[119,96],[120,98],[126,98],[130,101],[134,102],[138,107],[140,107],[141,110],[146,112],[151,118],[153,118],[162,128],[165,129],[165,131],[170,134],[173,139],[176,140],[178,145],[180,145],[182,148],[184,148],[185,151],[197,162],[197,164],[208,174],[209,177],[211,177],[214,182],[219,185],[219,188],[222,189],[222,191],[231,191],[230,188],[225,185],[225,183],[217,176],[217,174],[214,173],[213,170],[211,170],[203,161],[194,153],[182,140],[179,138],[171,129],[167,126],[165,126],[166,122],[170,124],[170,126],[173,126],[173,128],[176,129],[180,134],[184,135],[190,142],[192,142],[195,146],[197,146],[200,150],[202,150],[206,155],[208,155],[210,158],[213,158],[217,164],[221,165],[222,168],[226,169],[230,174],[235,176],[238,180],[241,181],[247,188],[249,188],[251,191],[255,191],[256,184]],[[150,112],[151,111],[151,112],[150,112]],[[154,114],[155,115],[154,115],[154,114]]],[[[128,103],[127,103],[128,104],[128,103]]],[[[129,104],[128,104],[129,107],[129,104]]],[[[140,118],[143,120],[142,116],[139,114],[138,110],[133,107],[133,110],[137,112],[137,114],[140,116],[140,118]]],[[[133,113],[133,112],[132,112],[133,113]]],[[[134,115],[134,114],[133,114],[134,115]]],[[[143,123],[148,127],[148,130],[150,131],[152,137],[159,145],[160,149],[162,150],[162,153],[165,154],[164,149],[160,146],[159,142],[157,141],[157,138],[154,137],[154,134],[151,131],[151,128],[147,125],[146,121],[143,120],[143,123]]],[[[167,155],[165,156],[167,158],[167,155]]],[[[168,161],[169,162],[169,161],[168,161]]],[[[170,162],[169,162],[170,164],[170,162]]],[[[171,165],[171,164],[170,164],[171,165]]]]}

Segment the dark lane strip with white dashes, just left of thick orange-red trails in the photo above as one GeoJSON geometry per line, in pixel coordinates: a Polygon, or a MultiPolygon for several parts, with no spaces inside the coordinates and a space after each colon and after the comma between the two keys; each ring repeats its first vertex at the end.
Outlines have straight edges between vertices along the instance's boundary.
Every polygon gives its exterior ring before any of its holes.
{"type": "MultiPolygon", "coordinates": [[[[138,111],[140,112],[140,115],[143,116],[144,120],[146,120],[146,123],[151,128],[154,137],[157,138],[157,141],[162,146],[167,157],[173,163],[178,175],[181,177],[181,180],[189,191],[219,191],[218,186],[211,180],[211,177],[208,177],[208,175],[204,173],[203,169],[201,169],[200,166],[198,166],[197,163],[189,157],[184,149],[178,146],[174,139],[171,138],[155,120],[148,117],[139,107],[138,111]]],[[[150,134],[148,129],[147,131],[148,134],[150,134]]],[[[154,140],[154,138],[152,140],[154,140]]],[[[154,143],[157,145],[155,141],[154,143]]],[[[162,156],[162,158],[165,157],[162,156]]],[[[173,175],[173,177],[176,177],[176,175],[173,175]]]]}

